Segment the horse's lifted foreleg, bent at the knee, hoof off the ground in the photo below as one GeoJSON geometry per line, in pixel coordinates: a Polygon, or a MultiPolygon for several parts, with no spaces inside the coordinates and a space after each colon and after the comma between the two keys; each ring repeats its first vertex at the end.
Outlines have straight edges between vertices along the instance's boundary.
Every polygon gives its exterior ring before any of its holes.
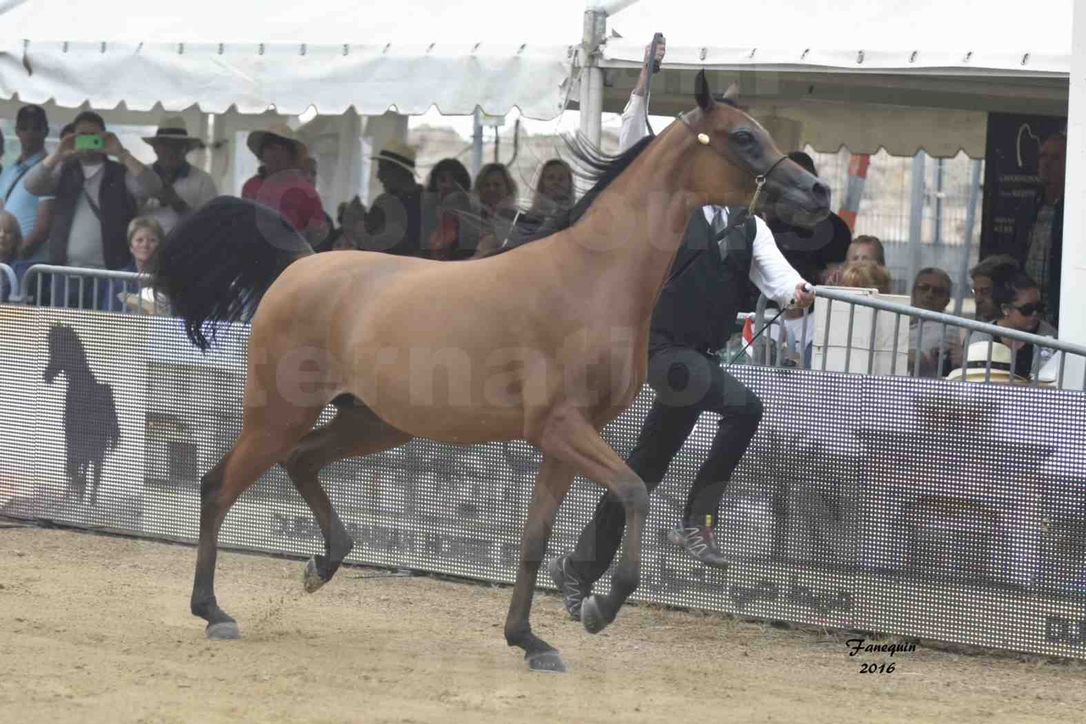
{"type": "Polygon", "coordinates": [[[589,596],[581,604],[581,622],[589,633],[597,634],[615,620],[641,582],[641,538],[648,517],[648,492],[644,481],[577,411],[552,417],[540,444],[544,455],[557,456],[576,472],[606,487],[626,510],[626,542],[611,576],[610,593],[589,596]]]}

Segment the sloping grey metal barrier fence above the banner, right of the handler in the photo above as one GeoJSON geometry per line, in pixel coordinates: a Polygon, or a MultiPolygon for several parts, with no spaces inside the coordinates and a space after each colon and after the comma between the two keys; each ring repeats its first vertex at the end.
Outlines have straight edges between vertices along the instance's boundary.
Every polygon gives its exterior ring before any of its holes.
{"type": "MultiPolygon", "coordinates": [[[[859,290],[857,290],[859,291],[859,290]]],[[[924,334],[925,330],[931,326],[937,326],[938,344],[934,347],[936,352],[935,358],[935,370],[946,370],[948,365],[948,358],[952,354],[952,348],[957,346],[961,351],[961,360],[952,360],[950,363],[951,370],[957,370],[956,377],[964,379],[967,373],[973,372],[980,374],[983,370],[983,380],[990,382],[993,381],[992,374],[993,369],[998,373],[1007,372],[1008,370],[1000,367],[1001,363],[994,361],[993,352],[995,350],[995,340],[997,338],[1002,338],[1005,340],[1013,340],[1020,342],[1023,345],[1033,345],[1034,353],[1031,364],[1031,370],[1028,374],[1030,386],[1056,386],[1060,389],[1068,388],[1070,385],[1076,384],[1077,380],[1071,381],[1065,379],[1068,356],[1072,355],[1086,360],[1086,346],[1078,344],[1073,344],[1062,340],[1058,340],[1052,336],[1045,336],[1040,334],[1031,334],[1028,332],[1022,332],[1015,329],[1010,329],[1007,327],[998,327],[996,325],[990,325],[986,322],[980,322],[973,319],[965,319],[962,317],[956,317],[954,315],[929,312],[926,309],[920,309],[918,307],[909,306],[906,304],[898,304],[895,302],[887,302],[879,299],[871,299],[868,296],[862,296],[856,292],[842,291],[839,289],[828,289],[824,287],[816,288],[816,296],[824,303],[824,315],[819,313],[821,318],[821,339],[808,339],[807,331],[809,328],[808,315],[816,314],[815,310],[808,309],[807,315],[805,315],[803,323],[800,325],[801,334],[798,338],[793,338],[786,334],[783,326],[778,326],[776,336],[773,338],[772,330],[765,330],[766,327],[766,310],[767,301],[765,295],[758,301],[758,306],[755,310],[755,334],[763,334],[770,341],[759,348],[759,354],[756,355],[755,359],[757,364],[770,365],[776,367],[795,366],[801,368],[816,369],[821,371],[843,371],[843,372],[858,372],[858,373],[888,373],[888,374],[908,374],[909,377],[943,377],[942,374],[922,374],[922,365],[918,364],[915,359],[917,351],[925,350],[924,346],[924,334]],[[835,318],[835,307],[845,307],[845,310],[837,312],[836,314],[847,314],[848,323],[846,327],[846,333],[844,334],[844,360],[843,367],[829,367],[829,360],[831,355],[829,351],[833,346],[831,344],[831,326],[832,320],[835,318]],[[864,319],[864,326],[870,326],[870,331],[868,332],[867,346],[861,346],[860,350],[867,359],[866,365],[857,366],[854,364],[854,347],[855,342],[855,328],[857,321],[857,307],[862,307],[871,310],[870,318],[864,319]],[[891,336],[891,346],[882,352],[888,352],[888,370],[876,370],[876,333],[879,331],[877,321],[879,313],[886,313],[893,315],[894,328],[891,336]],[[907,325],[910,327],[917,322],[915,326],[915,343],[913,344],[911,339],[907,344],[906,348],[900,350],[900,331],[901,331],[901,318],[905,317],[909,321],[907,325]],[[924,323],[931,322],[931,325],[924,323]],[[959,339],[960,343],[952,344],[954,338],[948,338],[947,330],[960,330],[959,339]],[[971,342],[986,341],[987,342],[987,353],[983,360],[980,359],[969,359],[968,351],[970,348],[971,342]],[[796,343],[798,342],[798,348],[796,343]],[[806,359],[806,351],[808,344],[819,345],[822,350],[820,359],[811,360],[813,364],[800,364],[795,361],[797,358],[806,359]],[[768,348],[767,348],[768,347],[768,348]],[[800,354],[799,351],[803,351],[800,354]],[[1047,351],[1051,351],[1048,354],[1047,351]],[[899,369],[899,353],[907,353],[909,361],[906,368],[899,369]],[[1043,364],[1043,359],[1048,357],[1047,364],[1043,364]],[[790,361],[792,360],[792,361],[790,361]],[[1066,384],[1065,384],[1066,383],[1066,384]]],[[[839,317],[836,317],[839,318],[839,317]]],[[[932,333],[932,332],[929,332],[932,333]]],[[[1012,357],[1011,372],[1013,372],[1014,361],[1012,357]]],[[[1086,389],[1086,372],[1082,380],[1082,386],[1075,386],[1074,389],[1086,389]]]]}

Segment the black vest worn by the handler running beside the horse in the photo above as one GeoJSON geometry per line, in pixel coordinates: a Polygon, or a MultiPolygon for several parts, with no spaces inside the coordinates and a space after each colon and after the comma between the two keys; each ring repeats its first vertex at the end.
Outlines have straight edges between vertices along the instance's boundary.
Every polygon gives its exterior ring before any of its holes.
{"type": "MultiPolygon", "coordinates": [[[[729,220],[746,209],[730,207],[729,220]]],[[[716,232],[698,208],[691,215],[668,281],[653,309],[649,353],[670,346],[716,352],[736,329],[735,315],[749,299],[750,261],[757,227],[754,218],[729,224],[721,253],[716,232]]]]}

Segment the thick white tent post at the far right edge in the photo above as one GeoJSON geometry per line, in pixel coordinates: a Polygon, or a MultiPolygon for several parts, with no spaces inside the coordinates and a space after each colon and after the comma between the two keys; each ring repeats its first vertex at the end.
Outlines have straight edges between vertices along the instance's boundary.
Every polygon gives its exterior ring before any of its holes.
{"type": "MultiPolygon", "coordinates": [[[[1071,96],[1068,104],[1068,166],[1064,188],[1060,339],[1086,343],[1086,8],[1074,3],[1071,31],[1071,96]]],[[[1069,356],[1064,380],[1083,381],[1082,357],[1069,356]],[[1073,365],[1073,367],[1072,367],[1073,365]]]]}

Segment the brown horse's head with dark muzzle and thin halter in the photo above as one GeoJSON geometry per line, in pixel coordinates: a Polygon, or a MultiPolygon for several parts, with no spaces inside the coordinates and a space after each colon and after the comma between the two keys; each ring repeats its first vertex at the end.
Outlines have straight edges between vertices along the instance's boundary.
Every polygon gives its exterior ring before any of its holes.
{"type": "Polygon", "coordinates": [[[718,205],[746,205],[757,193],[758,207],[771,204],[776,216],[794,224],[825,218],[830,187],[781,153],[769,131],[738,107],[737,97],[732,85],[715,100],[704,71],[694,80],[697,109],[680,122],[704,147],[692,165],[696,190],[718,205]]]}

